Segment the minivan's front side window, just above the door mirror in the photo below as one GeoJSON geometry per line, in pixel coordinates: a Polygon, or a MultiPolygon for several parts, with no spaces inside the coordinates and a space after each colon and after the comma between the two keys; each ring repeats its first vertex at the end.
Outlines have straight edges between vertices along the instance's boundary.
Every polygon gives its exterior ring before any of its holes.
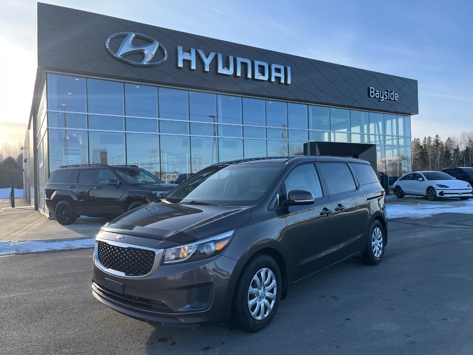
{"type": "Polygon", "coordinates": [[[323,196],[319,176],[313,164],[299,165],[293,169],[284,184],[287,193],[292,190],[306,190],[312,193],[313,198],[323,196]]]}

